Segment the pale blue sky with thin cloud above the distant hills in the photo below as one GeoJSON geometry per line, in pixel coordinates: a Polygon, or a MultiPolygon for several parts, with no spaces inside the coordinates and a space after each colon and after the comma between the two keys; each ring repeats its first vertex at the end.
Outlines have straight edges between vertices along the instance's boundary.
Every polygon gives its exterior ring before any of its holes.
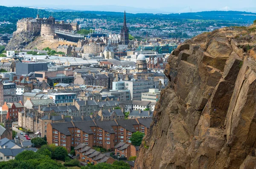
{"type": "Polygon", "coordinates": [[[256,12],[256,0],[1,0],[1,6],[47,7],[128,13],[182,13],[212,10],[256,12]],[[246,2],[246,3],[245,3],[246,2]]]}

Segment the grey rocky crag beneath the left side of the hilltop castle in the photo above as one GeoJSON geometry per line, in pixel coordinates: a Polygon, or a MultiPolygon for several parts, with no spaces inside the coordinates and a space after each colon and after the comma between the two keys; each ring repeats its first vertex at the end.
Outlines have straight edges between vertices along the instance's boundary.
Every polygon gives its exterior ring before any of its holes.
{"type": "Polygon", "coordinates": [[[14,32],[13,37],[6,46],[6,50],[18,51],[23,49],[29,43],[33,42],[36,37],[40,35],[40,31],[22,31],[19,33],[14,32]]]}

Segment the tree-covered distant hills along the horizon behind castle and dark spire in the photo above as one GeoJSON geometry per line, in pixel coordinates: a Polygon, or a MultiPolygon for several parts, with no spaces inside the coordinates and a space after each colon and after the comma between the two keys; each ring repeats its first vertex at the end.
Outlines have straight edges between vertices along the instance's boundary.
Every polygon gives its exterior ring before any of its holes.
{"type": "MultiPolygon", "coordinates": [[[[49,9],[47,9],[49,10],[49,9]]],[[[24,7],[6,7],[0,6],[0,21],[17,22],[23,17],[35,17],[38,13],[37,9],[24,7]]],[[[57,20],[69,20],[76,18],[102,18],[108,20],[122,19],[122,12],[108,12],[108,11],[45,11],[39,10],[41,17],[49,17],[50,15],[57,20]]],[[[226,22],[237,23],[253,23],[256,20],[256,13],[242,12],[242,11],[203,11],[195,13],[181,13],[181,14],[131,14],[127,13],[127,20],[143,19],[143,20],[173,20],[173,19],[192,19],[192,20],[223,20],[226,22]]],[[[120,20],[121,21],[121,20],[120,20]]]]}

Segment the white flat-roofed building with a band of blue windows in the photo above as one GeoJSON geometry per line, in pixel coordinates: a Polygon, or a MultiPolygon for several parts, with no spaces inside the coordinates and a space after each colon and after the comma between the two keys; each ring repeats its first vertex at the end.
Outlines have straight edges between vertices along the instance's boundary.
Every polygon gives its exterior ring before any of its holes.
{"type": "Polygon", "coordinates": [[[76,93],[51,93],[48,96],[52,97],[58,106],[71,106],[76,99],[76,93]]]}

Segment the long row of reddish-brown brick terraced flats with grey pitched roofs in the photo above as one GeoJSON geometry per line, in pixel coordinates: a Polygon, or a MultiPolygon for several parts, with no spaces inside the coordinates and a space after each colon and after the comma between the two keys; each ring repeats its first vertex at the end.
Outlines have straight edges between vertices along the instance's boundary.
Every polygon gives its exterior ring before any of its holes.
{"type": "Polygon", "coordinates": [[[64,146],[68,152],[71,147],[84,143],[87,146],[101,146],[114,150],[119,142],[131,144],[134,132],[148,133],[152,118],[109,121],[73,121],[47,124],[47,143],[64,146]]]}

